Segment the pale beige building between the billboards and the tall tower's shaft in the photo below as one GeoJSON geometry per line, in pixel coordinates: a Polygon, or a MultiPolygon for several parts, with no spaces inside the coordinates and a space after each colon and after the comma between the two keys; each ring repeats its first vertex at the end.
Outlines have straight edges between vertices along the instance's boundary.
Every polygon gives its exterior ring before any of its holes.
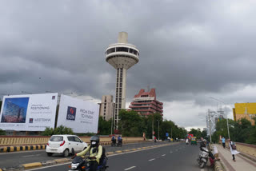
{"type": "Polygon", "coordinates": [[[102,96],[102,103],[100,103],[99,116],[104,120],[109,121],[114,116],[114,102],[112,95],[102,96]]]}

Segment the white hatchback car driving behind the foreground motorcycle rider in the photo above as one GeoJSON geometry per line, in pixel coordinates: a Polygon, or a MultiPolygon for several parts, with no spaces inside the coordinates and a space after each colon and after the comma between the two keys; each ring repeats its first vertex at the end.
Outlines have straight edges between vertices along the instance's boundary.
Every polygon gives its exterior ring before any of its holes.
{"type": "Polygon", "coordinates": [[[46,145],[46,153],[52,156],[53,153],[62,153],[67,157],[70,153],[74,154],[86,149],[86,142],[75,135],[53,135],[46,145]]]}

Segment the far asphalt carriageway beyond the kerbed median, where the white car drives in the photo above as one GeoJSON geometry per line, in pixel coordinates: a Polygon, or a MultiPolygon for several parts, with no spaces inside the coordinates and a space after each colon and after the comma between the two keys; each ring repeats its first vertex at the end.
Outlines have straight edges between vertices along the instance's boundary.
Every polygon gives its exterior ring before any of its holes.
{"type": "MultiPolygon", "coordinates": [[[[144,146],[166,144],[166,143],[170,143],[170,142],[167,142],[167,141],[157,142],[157,143],[143,142],[143,143],[134,143],[134,144],[124,144],[122,145],[122,147],[111,147],[110,145],[106,145],[104,147],[106,148],[106,152],[114,152],[117,150],[135,149],[135,148],[140,148],[144,146]]],[[[14,152],[14,153],[0,153],[0,168],[10,168],[10,167],[15,167],[15,166],[26,164],[26,163],[50,161],[58,158],[63,158],[63,157],[60,154],[54,154],[52,157],[48,157],[46,155],[45,149],[14,152]]]]}

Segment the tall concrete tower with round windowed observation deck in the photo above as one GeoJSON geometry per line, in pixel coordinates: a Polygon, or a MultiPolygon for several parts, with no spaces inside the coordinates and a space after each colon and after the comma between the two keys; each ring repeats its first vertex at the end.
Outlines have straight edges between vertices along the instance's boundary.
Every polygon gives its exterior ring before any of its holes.
{"type": "Polygon", "coordinates": [[[120,32],[118,43],[111,44],[106,49],[106,62],[117,70],[117,83],[115,92],[114,125],[118,125],[120,109],[126,109],[126,71],[138,63],[139,51],[136,46],[128,44],[128,34],[120,32]]]}

